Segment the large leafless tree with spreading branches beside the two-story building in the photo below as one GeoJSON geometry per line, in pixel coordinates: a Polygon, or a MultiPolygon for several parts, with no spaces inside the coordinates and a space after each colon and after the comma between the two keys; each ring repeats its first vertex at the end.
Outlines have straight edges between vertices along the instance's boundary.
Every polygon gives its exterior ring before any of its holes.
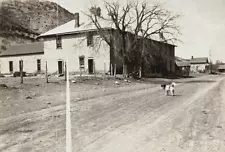
{"type": "Polygon", "coordinates": [[[154,36],[160,36],[163,43],[178,40],[176,37],[180,32],[176,20],[179,15],[172,14],[161,5],[136,2],[121,6],[115,2],[105,2],[104,9],[106,13],[102,14],[99,7],[93,6],[86,15],[98,29],[102,39],[120,54],[124,76],[128,74],[127,63],[132,59],[132,53],[138,53],[138,63],[141,66],[146,54],[151,57],[151,47],[160,49],[154,44],[155,41],[151,41],[154,36]],[[114,30],[109,30],[105,22],[114,30]]]}

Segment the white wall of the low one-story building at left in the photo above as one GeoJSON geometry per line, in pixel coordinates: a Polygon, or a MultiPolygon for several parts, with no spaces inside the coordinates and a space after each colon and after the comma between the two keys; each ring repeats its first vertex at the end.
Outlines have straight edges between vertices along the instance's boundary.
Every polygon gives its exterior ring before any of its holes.
{"type": "Polygon", "coordinates": [[[9,61],[13,61],[13,72],[19,71],[19,61],[23,60],[23,71],[26,73],[37,72],[37,59],[41,59],[41,70],[45,70],[44,54],[40,55],[26,55],[26,56],[10,56],[0,57],[0,72],[2,74],[10,74],[9,61]]]}

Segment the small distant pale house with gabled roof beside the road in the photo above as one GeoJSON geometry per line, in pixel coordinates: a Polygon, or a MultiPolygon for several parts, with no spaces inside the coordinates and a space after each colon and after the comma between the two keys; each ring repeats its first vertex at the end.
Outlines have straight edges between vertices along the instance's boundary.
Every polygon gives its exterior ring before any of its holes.
{"type": "Polygon", "coordinates": [[[190,59],[190,65],[191,65],[191,72],[208,72],[209,71],[209,60],[207,57],[201,57],[201,58],[192,58],[190,59]]]}

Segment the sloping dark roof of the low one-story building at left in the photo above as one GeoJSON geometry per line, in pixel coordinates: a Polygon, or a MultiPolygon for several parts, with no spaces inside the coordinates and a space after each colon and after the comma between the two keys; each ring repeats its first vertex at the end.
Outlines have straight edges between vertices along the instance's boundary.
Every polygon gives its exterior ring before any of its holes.
{"type": "Polygon", "coordinates": [[[36,42],[30,44],[12,45],[6,51],[2,52],[0,54],[0,57],[43,54],[43,53],[44,53],[44,43],[36,42]]]}

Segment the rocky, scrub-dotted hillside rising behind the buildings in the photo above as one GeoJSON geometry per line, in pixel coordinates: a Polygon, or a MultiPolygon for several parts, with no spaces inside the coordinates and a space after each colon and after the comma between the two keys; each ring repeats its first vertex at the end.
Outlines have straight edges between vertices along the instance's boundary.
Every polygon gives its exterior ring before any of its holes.
{"type": "Polygon", "coordinates": [[[0,51],[62,25],[74,15],[54,2],[4,0],[0,5],[0,51]],[[58,12],[58,13],[57,13],[58,12]]]}

